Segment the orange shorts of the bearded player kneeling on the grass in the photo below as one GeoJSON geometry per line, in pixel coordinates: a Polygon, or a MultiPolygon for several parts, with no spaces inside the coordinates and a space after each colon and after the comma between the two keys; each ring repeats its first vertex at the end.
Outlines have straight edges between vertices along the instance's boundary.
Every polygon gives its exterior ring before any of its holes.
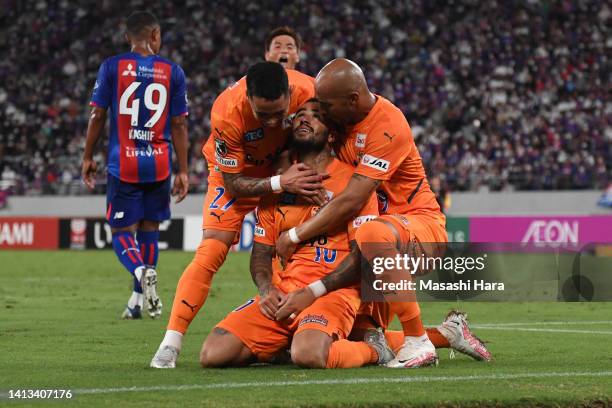
{"type": "Polygon", "coordinates": [[[293,320],[277,322],[259,310],[259,296],[229,313],[217,327],[238,337],[260,361],[287,349],[291,338],[303,330],[319,330],[338,339],[347,338],[357,309],[356,289],[340,289],[321,296],[293,320]]]}

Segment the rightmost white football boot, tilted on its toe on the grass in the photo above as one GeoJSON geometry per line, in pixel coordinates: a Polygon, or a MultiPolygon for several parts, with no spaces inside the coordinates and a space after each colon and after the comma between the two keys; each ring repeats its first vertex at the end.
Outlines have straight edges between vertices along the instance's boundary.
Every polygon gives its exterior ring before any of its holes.
{"type": "Polygon", "coordinates": [[[491,361],[491,353],[484,342],[471,332],[467,314],[451,310],[438,330],[450,343],[453,350],[466,354],[475,360],[491,361]]]}

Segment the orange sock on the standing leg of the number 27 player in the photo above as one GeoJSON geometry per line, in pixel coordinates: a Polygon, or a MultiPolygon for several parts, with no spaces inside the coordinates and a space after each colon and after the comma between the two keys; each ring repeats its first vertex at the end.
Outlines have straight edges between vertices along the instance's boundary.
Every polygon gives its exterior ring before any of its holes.
{"type": "Polygon", "coordinates": [[[213,276],[219,270],[229,247],[216,239],[202,240],[195,256],[179,279],[168,322],[168,330],[185,333],[206,298],[213,276]]]}

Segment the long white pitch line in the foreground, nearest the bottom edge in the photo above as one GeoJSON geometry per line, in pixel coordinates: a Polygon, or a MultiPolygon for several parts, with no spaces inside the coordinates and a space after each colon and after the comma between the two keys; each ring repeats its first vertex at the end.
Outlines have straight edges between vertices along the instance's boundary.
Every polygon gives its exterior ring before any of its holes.
{"type": "Polygon", "coordinates": [[[555,377],[612,377],[612,371],[601,372],[552,372],[552,373],[520,373],[520,374],[490,374],[467,376],[415,376],[415,377],[378,377],[378,378],[350,378],[305,381],[255,381],[255,382],[229,382],[213,384],[187,384],[187,385],[152,385],[147,387],[124,388],[86,388],[75,389],[74,394],[116,394],[125,392],[147,391],[184,391],[230,388],[256,388],[256,387],[287,387],[304,385],[355,385],[371,383],[426,383],[447,381],[486,381],[486,380],[516,380],[528,378],[555,378],[555,377]]]}

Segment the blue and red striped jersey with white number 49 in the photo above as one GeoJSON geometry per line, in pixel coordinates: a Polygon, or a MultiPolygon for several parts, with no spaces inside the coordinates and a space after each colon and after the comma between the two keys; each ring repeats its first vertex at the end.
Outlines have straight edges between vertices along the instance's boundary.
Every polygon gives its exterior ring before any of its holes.
{"type": "Polygon", "coordinates": [[[170,176],[170,118],[187,115],[183,69],[157,55],[116,55],[100,65],[90,105],[110,108],[108,171],[128,183],[170,176]]]}

